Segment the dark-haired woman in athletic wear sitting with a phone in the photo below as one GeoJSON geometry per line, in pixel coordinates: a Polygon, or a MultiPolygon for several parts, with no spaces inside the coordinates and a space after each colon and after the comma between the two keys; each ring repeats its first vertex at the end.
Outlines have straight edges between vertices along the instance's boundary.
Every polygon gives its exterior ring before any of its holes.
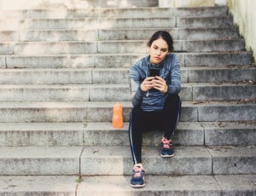
{"type": "Polygon", "coordinates": [[[148,42],[149,55],[130,69],[131,110],[129,136],[134,170],[131,187],[144,187],[142,164],[143,132],[162,130],[160,156],[174,156],[172,136],[180,117],[180,68],[177,55],[171,54],[173,43],[166,31],[155,32],[148,42]]]}

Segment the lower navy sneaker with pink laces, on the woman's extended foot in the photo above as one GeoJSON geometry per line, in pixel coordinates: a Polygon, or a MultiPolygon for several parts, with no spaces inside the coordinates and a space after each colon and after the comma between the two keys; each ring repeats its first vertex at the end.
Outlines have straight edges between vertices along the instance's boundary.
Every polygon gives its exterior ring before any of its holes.
{"type": "Polygon", "coordinates": [[[143,164],[135,164],[132,171],[131,187],[144,187],[144,175],[145,170],[143,169],[143,164]]]}

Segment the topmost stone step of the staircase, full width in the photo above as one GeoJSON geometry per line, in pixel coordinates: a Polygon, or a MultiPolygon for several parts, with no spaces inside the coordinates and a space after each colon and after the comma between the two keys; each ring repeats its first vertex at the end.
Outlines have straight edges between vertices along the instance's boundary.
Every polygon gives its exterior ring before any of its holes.
{"type": "MultiPolygon", "coordinates": [[[[148,1],[147,1],[148,2],[148,1]]],[[[2,10],[0,19],[67,19],[87,17],[119,17],[119,18],[150,18],[188,16],[188,17],[210,17],[227,15],[227,7],[207,8],[129,8],[129,9],[23,9],[2,10]]]]}

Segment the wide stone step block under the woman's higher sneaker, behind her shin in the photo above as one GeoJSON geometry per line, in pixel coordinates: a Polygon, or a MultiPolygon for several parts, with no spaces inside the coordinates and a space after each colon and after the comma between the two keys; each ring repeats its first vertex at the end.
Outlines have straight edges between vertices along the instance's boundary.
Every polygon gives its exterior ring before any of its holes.
{"type": "MultiPolygon", "coordinates": [[[[172,159],[162,159],[159,147],[143,147],[148,174],[212,174],[212,157],[205,147],[176,147],[175,152],[172,159]]],[[[130,147],[85,147],[81,156],[82,175],[129,175],[132,165],[130,147]]]]}

